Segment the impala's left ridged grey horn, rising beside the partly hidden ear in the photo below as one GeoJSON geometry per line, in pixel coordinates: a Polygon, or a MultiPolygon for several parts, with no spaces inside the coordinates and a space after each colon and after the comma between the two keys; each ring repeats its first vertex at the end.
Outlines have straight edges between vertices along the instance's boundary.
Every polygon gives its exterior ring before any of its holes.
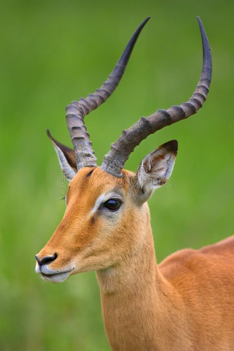
{"type": "Polygon", "coordinates": [[[85,166],[97,165],[97,159],[94,156],[92,143],[89,141],[89,134],[86,131],[83,118],[105,102],[113,93],[119,80],[122,78],[135,42],[149,19],[150,17],[147,17],[137,28],[114,70],[109,78],[102,84],[101,88],[95,90],[93,94],[89,94],[86,99],[80,98],[79,101],[72,101],[66,108],[67,126],[74,146],[78,169],[85,166]]]}

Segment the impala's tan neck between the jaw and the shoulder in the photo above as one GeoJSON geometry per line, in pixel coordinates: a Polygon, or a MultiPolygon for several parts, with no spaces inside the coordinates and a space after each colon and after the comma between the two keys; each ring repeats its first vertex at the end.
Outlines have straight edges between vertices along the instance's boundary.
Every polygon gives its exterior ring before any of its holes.
{"type": "MultiPolygon", "coordinates": [[[[180,323],[177,313],[173,312],[173,288],[156,264],[149,215],[147,217],[147,233],[142,233],[144,242],[139,251],[117,267],[97,272],[105,329],[115,351],[152,350],[152,345],[154,350],[163,350],[160,335],[165,341],[167,323],[173,322],[174,317],[175,324],[180,323]]],[[[168,332],[168,347],[171,333],[174,334],[174,330],[168,332]]]]}

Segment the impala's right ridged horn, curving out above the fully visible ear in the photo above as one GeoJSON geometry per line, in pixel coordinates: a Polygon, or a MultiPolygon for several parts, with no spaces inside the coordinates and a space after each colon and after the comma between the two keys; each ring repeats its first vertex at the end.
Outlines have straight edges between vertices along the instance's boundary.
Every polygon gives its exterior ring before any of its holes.
{"type": "Polygon", "coordinates": [[[122,176],[124,163],[134,148],[148,135],[157,130],[194,115],[202,107],[209,91],[212,75],[212,59],[209,41],[199,17],[197,17],[203,48],[202,71],[192,97],[180,106],[172,106],[168,110],[157,110],[149,117],[141,117],[129,129],[123,130],[117,142],[111,145],[110,152],[104,156],[101,168],[116,177],[122,176]]]}

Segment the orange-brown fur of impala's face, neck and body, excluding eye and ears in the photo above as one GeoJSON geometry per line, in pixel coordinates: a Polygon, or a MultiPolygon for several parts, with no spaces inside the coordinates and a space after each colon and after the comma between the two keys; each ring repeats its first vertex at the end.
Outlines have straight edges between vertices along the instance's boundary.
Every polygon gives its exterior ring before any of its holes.
{"type": "Polygon", "coordinates": [[[157,265],[136,175],[91,170],[81,169],[70,183],[64,218],[39,257],[56,252],[51,268],[96,271],[115,351],[233,351],[234,236],[157,265]],[[112,220],[99,211],[90,215],[98,196],[113,189],[123,197],[119,214],[112,220]]]}

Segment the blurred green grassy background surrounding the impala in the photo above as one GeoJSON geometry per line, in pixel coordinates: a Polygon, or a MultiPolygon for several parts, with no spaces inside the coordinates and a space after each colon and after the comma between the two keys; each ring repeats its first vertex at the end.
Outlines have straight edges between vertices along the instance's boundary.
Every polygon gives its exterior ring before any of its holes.
{"type": "Polygon", "coordinates": [[[71,145],[65,106],[101,85],[148,15],[119,87],[85,119],[99,164],[123,128],[190,97],[201,68],[199,15],[213,54],[208,101],[142,142],[126,168],[178,139],[172,179],[149,201],[158,262],[233,234],[233,13],[232,0],[1,3],[0,350],[110,350],[95,273],[52,285],[34,272],[65,210],[45,129],[71,145]]]}

